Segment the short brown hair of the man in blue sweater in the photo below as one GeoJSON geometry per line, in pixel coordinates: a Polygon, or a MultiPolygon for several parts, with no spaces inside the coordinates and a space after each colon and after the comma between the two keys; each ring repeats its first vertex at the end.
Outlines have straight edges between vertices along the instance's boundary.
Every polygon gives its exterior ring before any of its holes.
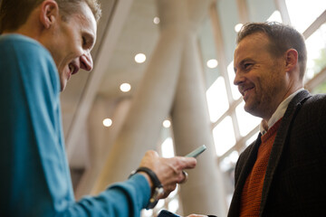
{"type": "MultiPolygon", "coordinates": [[[[44,0],[0,0],[0,34],[5,30],[14,31],[23,25],[34,8],[44,0]],[[18,12],[18,13],[17,13],[18,12]]],[[[101,18],[101,5],[98,0],[55,0],[63,17],[78,13],[82,2],[89,5],[98,22],[101,18]]]]}

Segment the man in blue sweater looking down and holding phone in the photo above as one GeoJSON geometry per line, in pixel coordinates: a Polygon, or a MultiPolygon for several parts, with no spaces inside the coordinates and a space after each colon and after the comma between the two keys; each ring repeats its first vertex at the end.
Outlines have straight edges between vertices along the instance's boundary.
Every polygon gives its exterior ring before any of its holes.
{"type": "Polygon", "coordinates": [[[0,6],[0,216],[139,216],[168,196],[192,157],[149,151],[129,180],[76,202],[59,95],[91,71],[96,0],[2,0],[0,6]]]}

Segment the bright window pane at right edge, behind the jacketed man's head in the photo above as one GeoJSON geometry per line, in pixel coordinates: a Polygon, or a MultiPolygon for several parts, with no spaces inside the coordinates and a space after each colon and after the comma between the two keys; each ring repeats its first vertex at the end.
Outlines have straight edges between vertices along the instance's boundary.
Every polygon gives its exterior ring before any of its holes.
{"type": "Polygon", "coordinates": [[[305,79],[310,80],[326,66],[326,24],[306,40],[308,60],[305,79]]]}

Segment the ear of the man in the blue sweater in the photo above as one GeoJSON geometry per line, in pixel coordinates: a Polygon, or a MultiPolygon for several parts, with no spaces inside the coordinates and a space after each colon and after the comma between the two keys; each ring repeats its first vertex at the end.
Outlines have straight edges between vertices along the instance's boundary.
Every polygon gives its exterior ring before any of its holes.
{"type": "Polygon", "coordinates": [[[59,17],[59,6],[54,0],[45,0],[41,4],[40,21],[45,29],[51,27],[59,17]]]}

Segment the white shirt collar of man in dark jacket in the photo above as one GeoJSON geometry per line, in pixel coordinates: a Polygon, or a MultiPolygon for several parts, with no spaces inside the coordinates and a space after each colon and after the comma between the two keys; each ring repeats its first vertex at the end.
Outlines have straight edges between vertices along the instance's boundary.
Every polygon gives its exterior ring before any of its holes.
{"type": "MultiPolygon", "coordinates": [[[[281,104],[277,107],[277,109],[273,113],[272,117],[269,119],[269,121],[267,123],[267,126],[268,126],[267,129],[269,129],[270,127],[272,127],[277,122],[277,120],[279,120],[280,118],[283,117],[286,109],[289,106],[290,101],[301,90],[303,90],[303,88],[302,89],[299,89],[299,90],[296,90],[289,97],[287,97],[286,99],[284,99],[283,102],[281,102],[281,104]]],[[[259,126],[259,130],[260,130],[260,132],[261,132],[262,135],[264,135],[267,132],[267,129],[265,128],[266,126],[264,127],[264,125],[265,124],[264,124],[264,119],[263,119],[262,122],[261,122],[261,124],[260,124],[260,126],[259,126]]]]}

